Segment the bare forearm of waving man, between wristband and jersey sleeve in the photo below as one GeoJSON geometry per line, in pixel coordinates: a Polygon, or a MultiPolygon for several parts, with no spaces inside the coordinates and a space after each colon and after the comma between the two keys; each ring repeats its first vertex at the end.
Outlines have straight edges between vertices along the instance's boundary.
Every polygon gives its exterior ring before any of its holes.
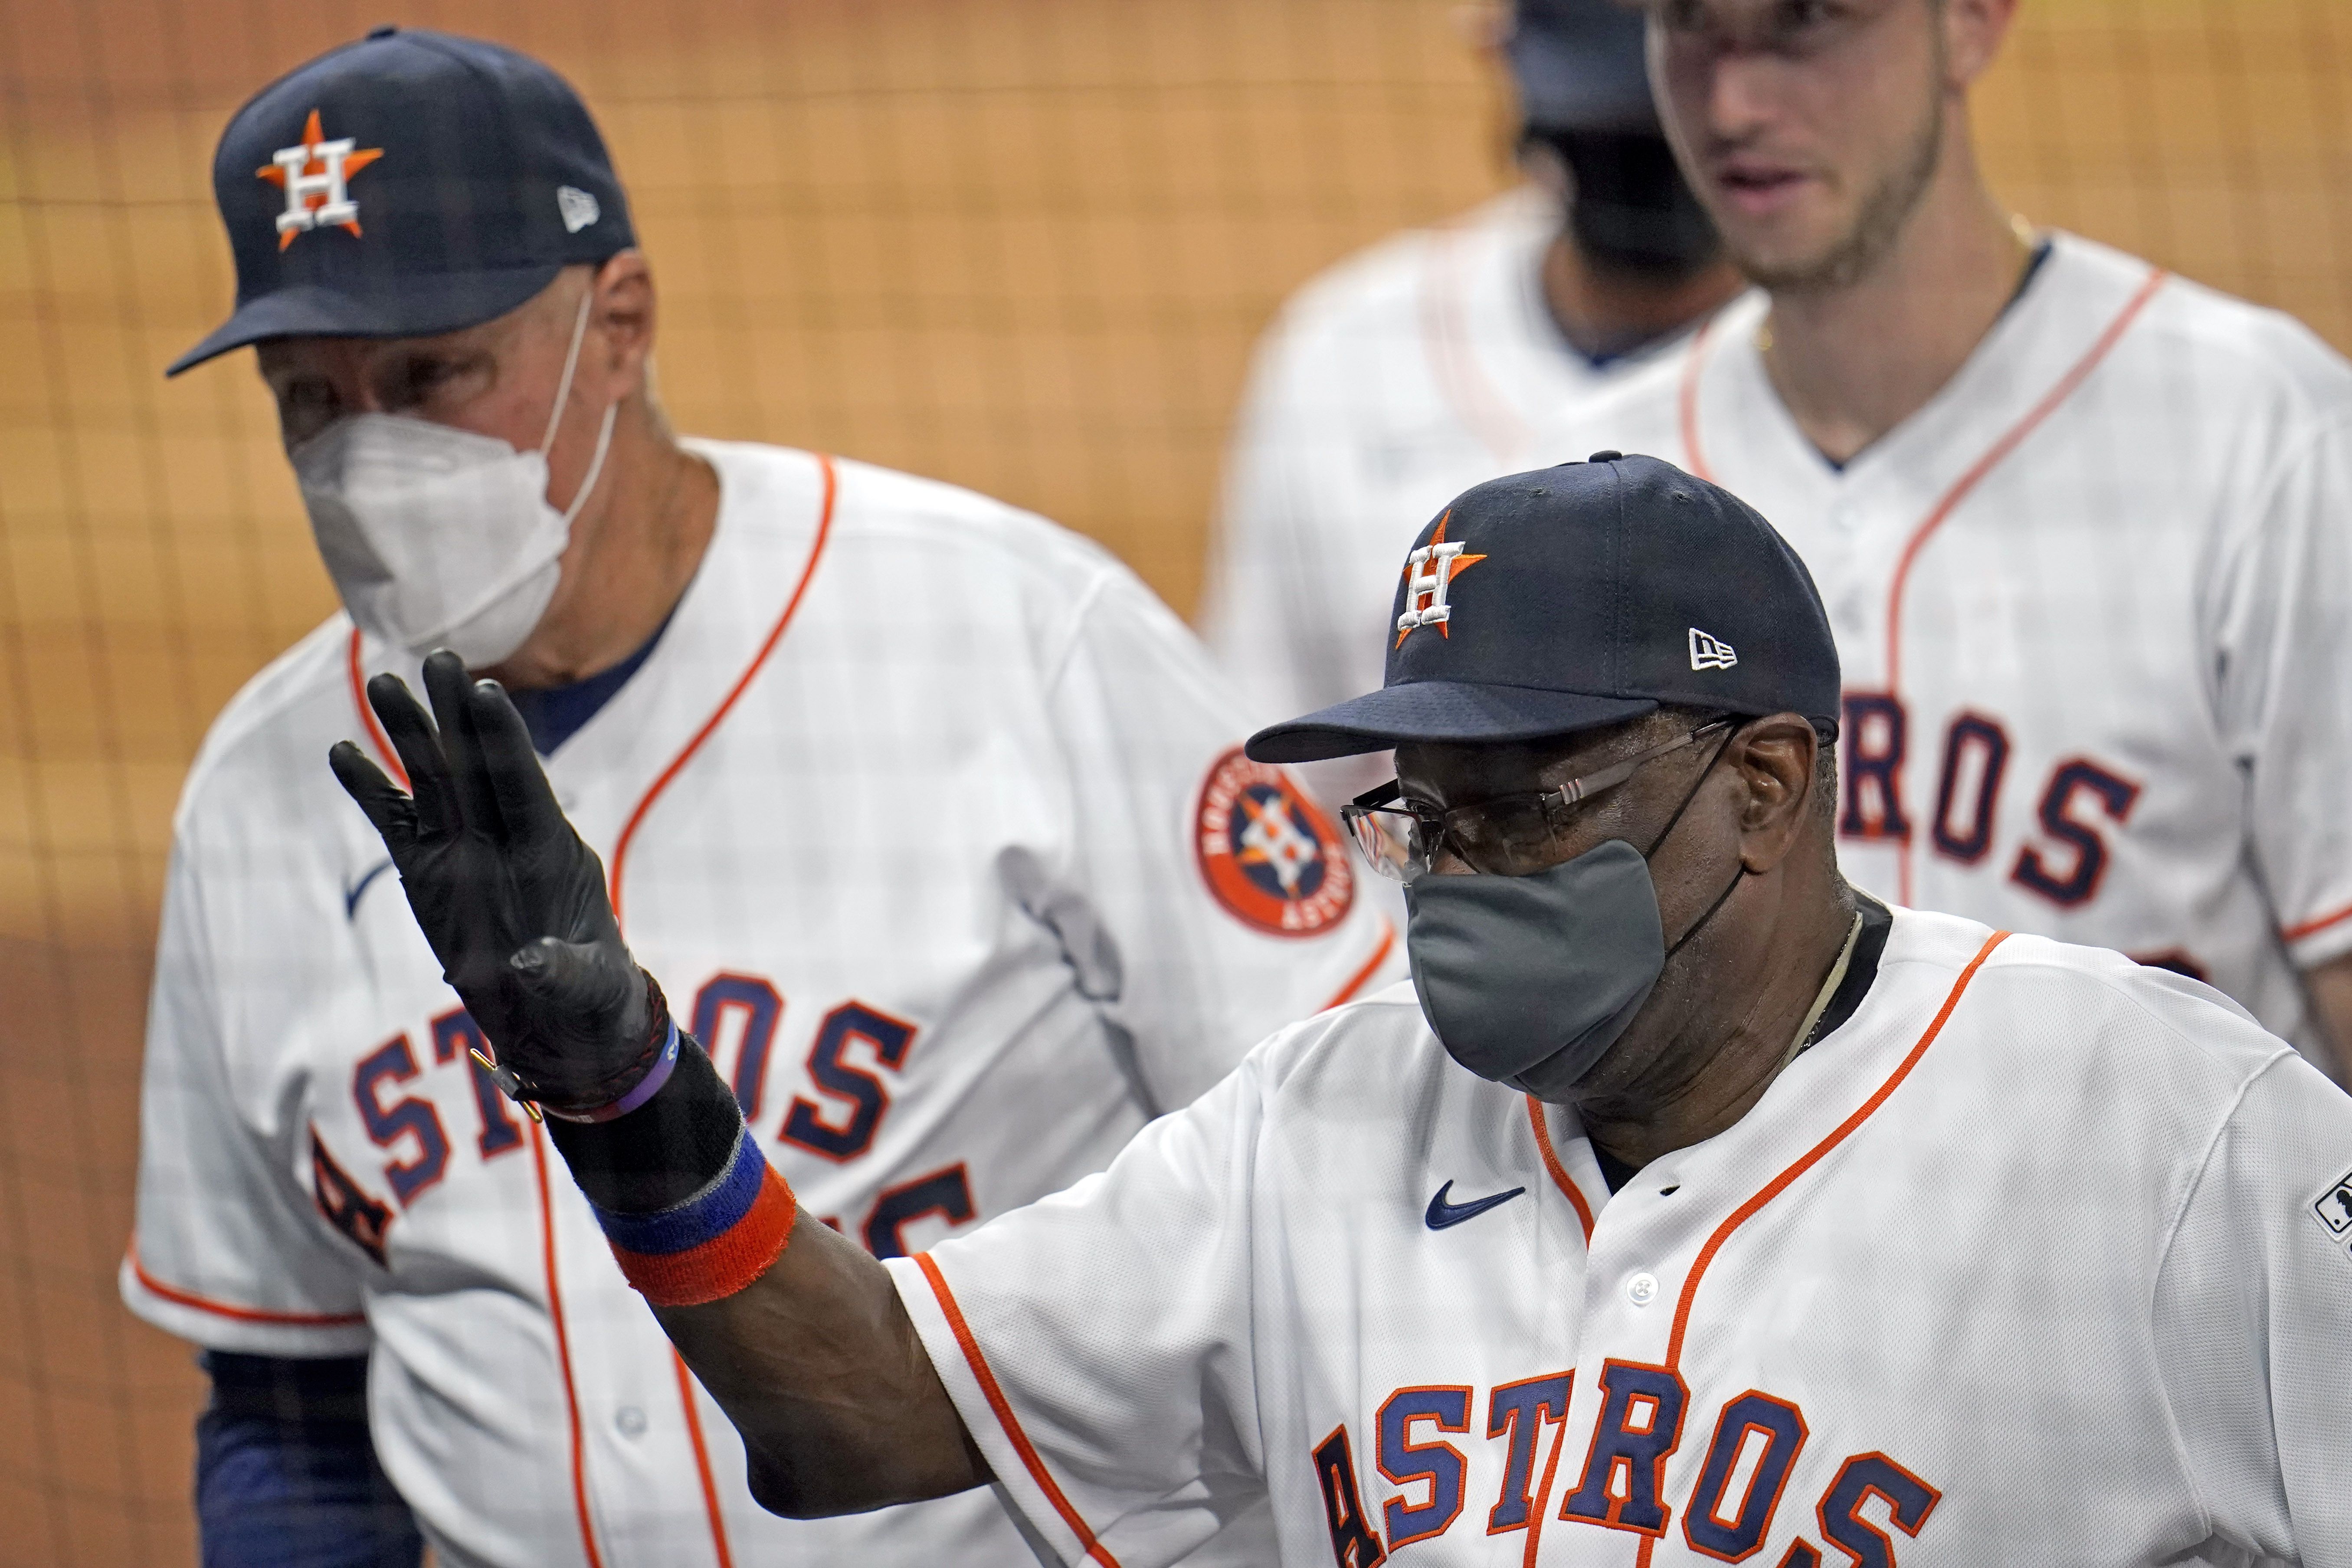
{"type": "Polygon", "coordinates": [[[809,1215],[748,1288],[654,1316],[743,1434],[771,1514],[856,1514],[988,1481],[889,1272],[809,1215]]]}

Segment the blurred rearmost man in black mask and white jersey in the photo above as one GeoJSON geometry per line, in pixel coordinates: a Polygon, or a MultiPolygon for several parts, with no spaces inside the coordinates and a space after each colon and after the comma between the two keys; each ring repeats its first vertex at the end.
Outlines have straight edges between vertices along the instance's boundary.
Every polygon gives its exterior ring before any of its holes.
{"type": "MultiPolygon", "coordinates": [[[[1397,550],[1451,496],[1534,465],[1564,402],[1740,289],[1658,129],[1642,16],[1477,16],[1517,89],[1526,183],[1301,289],[1235,423],[1202,628],[1265,715],[1378,686],[1397,550]]],[[[1388,773],[1371,757],[1305,778],[1341,802],[1388,773]]]]}

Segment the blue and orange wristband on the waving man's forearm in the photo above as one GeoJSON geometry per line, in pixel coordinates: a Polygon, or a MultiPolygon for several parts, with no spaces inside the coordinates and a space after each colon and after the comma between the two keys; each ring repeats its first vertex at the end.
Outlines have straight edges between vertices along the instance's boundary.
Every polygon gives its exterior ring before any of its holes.
{"type": "Polygon", "coordinates": [[[654,1213],[590,1208],[621,1276],[654,1307],[699,1307],[760,1279],[783,1255],[800,1213],[750,1126],[736,1133],[727,1168],[682,1204],[654,1213]]]}

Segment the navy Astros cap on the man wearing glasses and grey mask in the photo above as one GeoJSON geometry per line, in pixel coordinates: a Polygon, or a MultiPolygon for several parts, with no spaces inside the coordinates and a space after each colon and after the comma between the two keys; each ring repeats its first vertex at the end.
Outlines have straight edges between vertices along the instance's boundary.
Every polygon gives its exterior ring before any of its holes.
{"type": "Polygon", "coordinates": [[[1658,458],[1595,451],[1463,491],[1404,557],[1388,637],[1378,691],[1261,729],[1251,759],[1538,741],[1661,703],[1837,733],[1813,576],[1755,508],[1658,458]]]}

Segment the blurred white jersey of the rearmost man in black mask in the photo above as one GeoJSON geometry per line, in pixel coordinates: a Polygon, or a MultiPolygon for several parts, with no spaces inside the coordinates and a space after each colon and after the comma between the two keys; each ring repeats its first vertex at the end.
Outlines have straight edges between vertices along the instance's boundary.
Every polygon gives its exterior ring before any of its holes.
{"type": "MultiPolygon", "coordinates": [[[[1564,402],[1653,357],[1595,364],[1562,336],[1541,275],[1557,235],[1559,202],[1512,190],[1331,268],[1258,346],[1202,628],[1268,717],[1378,689],[1414,534],[1472,484],[1545,461],[1564,402]]],[[[1303,773],[1336,797],[1378,783],[1350,764],[1303,773]]]]}

